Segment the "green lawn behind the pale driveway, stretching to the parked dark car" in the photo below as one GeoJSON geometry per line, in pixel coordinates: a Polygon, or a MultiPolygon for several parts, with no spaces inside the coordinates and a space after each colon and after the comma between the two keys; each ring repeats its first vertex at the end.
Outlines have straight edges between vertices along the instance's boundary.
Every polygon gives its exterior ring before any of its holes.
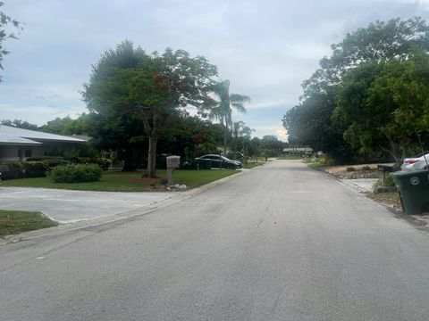
{"type": "MultiPolygon", "coordinates": [[[[213,182],[223,177],[228,177],[240,173],[237,170],[175,170],[174,183],[187,185],[189,188],[195,188],[200,185],[213,182]]],[[[47,177],[41,178],[22,178],[3,181],[3,186],[26,186],[26,187],[45,187],[60,188],[80,191],[105,191],[105,192],[147,192],[159,191],[164,189],[161,185],[161,179],[166,179],[166,170],[157,170],[159,179],[141,178],[143,172],[105,172],[99,182],[90,183],[53,183],[47,177]],[[154,188],[155,187],[155,188],[154,188]]]]}

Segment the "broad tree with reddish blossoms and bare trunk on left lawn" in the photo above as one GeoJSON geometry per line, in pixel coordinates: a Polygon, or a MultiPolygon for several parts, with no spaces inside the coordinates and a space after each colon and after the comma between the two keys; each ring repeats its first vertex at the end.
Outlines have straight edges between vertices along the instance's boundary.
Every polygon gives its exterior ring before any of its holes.
{"type": "MultiPolygon", "coordinates": [[[[217,75],[202,56],[183,50],[146,53],[129,41],[102,54],[85,85],[88,109],[141,121],[148,139],[147,177],[156,177],[156,145],[168,119],[187,106],[203,110],[217,75]]],[[[134,137],[133,139],[139,139],[134,137]]]]}

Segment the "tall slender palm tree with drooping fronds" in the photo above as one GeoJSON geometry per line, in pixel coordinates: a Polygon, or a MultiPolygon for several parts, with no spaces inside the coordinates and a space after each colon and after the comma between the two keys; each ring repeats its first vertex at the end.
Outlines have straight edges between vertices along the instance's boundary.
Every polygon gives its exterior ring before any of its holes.
{"type": "Polygon", "coordinates": [[[213,86],[214,95],[219,99],[212,108],[210,117],[219,119],[223,125],[223,154],[226,155],[226,143],[229,131],[232,129],[232,108],[241,113],[246,112],[244,105],[250,103],[247,95],[230,94],[230,80],[223,80],[213,86]]]}

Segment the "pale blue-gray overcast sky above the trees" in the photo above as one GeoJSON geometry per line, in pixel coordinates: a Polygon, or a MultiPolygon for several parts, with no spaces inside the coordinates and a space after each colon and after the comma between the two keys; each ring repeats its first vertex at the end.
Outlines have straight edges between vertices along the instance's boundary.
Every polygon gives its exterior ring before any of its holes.
{"type": "Polygon", "coordinates": [[[0,70],[0,119],[38,125],[87,111],[80,99],[91,63],[124,39],[147,52],[165,47],[204,55],[249,95],[257,130],[282,138],[282,115],[299,103],[301,83],[330,45],[369,22],[416,15],[429,20],[429,0],[4,0],[25,23],[0,70]]]}

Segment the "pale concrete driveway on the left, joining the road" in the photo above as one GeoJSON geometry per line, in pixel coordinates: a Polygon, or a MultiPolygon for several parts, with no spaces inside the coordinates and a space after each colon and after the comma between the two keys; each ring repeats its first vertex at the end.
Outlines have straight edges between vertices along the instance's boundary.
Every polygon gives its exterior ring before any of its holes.
{"type": "Polygon", "coordinates": [[[38,210],[60,223],[144,210],[177,193],[118,193],[0,187],[1,210],[38,210]]]}

